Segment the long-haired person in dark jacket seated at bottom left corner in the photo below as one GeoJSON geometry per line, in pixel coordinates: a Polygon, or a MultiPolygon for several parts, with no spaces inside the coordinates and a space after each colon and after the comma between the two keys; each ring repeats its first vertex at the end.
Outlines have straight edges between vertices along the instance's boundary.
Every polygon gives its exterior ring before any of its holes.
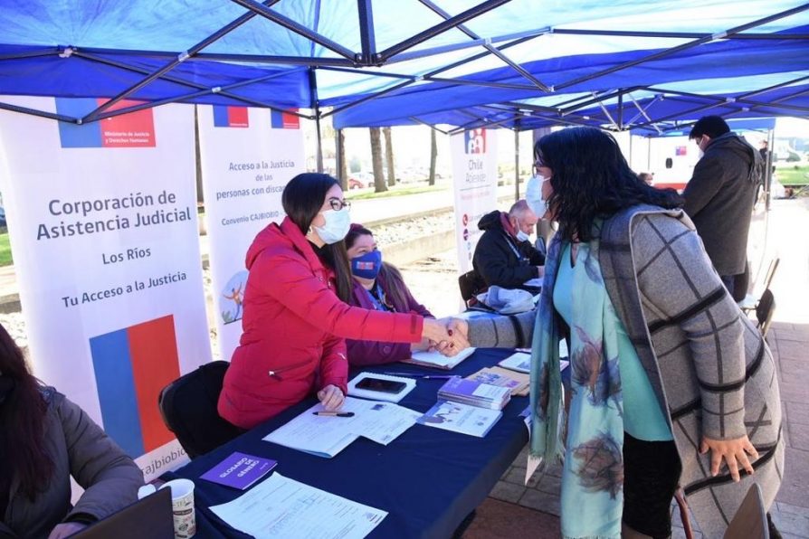
{"type": "Polygon", "coordinates": [[[143,473],[79,406],[28,372],[0,326],[0,537],[61,539],[138,499],[143,473]],[[71,477],[84,493],[71,506],[71,477]]]}

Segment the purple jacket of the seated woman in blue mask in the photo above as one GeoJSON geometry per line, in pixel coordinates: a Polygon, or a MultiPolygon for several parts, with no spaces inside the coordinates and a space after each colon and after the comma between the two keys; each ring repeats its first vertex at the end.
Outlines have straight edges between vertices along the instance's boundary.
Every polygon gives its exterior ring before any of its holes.
{"type": "MultiPolygon", "coordinates": [[[[351,305],[373,310],[374,304],[368,298],[368,292],[357,279],[352,279],[354,288],[351,292],[351,305]]],[[[378,277],[376,282],[382,287],[385,296],[389,297],[385,279],[378,277]]],[[[394,307],[398,313],[414,313],[423,317],[434,318],[427,307],[415,300],[410,290],[404,287],[404,296],[407,299],[406,305],[396,305],[394,307]]],[[[401,359],[410,357],[410,345],[406,343],[387,343],[382,341],[360,341],[346,339],[348,364],[351,366],[364,366],[374,364],[394,363],[401,359]]]]}

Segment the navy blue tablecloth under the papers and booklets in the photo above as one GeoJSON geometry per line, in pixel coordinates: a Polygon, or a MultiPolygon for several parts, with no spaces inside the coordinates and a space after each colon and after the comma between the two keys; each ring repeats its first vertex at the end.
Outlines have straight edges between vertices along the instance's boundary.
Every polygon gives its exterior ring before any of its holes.
{"type": "MultiPolygon", "coordinates": [[[[362,371],[466,376],[497,364],[509,350],[481,349],[452,371],[389,364],[362,371]]],[[[357,371],[360,372],[360,371],[357,371]]],[[[436,402],[443,380],[419,380],[413,392],[399,402],[415,411],[427,411],[436,402]]],[[[414,425],[389,445],[359,438],[333,459],[322,459],[262,440],[315,403],[293,406],[270,421],[246,432],[211,453],[194,459],[165,478],[195,481],[199,537],[245,537],[218,519],[207,506],[229,502],[242,491],[199,479],[233,451],[275,459],[281,475],[338,496],[383,509],[388,515],[368,537],[451,537],[475,507],[488,496],[498,478],[528,441],[519,412],[528,397],[514,397],[503,417],[485,438],[414,425]]]]}

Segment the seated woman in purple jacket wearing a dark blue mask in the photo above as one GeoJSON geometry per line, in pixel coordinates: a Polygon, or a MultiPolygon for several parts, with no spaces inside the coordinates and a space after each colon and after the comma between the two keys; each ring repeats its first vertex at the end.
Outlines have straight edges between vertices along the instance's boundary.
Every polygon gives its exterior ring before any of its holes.
{"type": "MultiPolygon", "coordinates": [[[[404,284],[395,266],[382,261],[376,249],[374,234],[354,223],[346,236],[351,274],[354,276],[351,305],[396,313],[409,313],[434,318],[424,305],[418,303],[404,284]]],[[[393,363],[410,357],[411,351],[425,350],[423,340],[413,345],[380,341],[346,340],[348,363],[354,366],[393,363]]]]}

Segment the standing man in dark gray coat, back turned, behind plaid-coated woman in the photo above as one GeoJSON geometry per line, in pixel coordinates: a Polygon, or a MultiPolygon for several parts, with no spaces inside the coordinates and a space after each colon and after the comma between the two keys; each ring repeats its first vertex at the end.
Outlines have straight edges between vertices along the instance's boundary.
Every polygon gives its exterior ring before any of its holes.
{"type": "Polygon", "coordinates": [[[719,116],[700,118],[689,138],[705,154],[682,193],[682,209],[697,227],[728,292],[738,300],[747,292],[735,293],[734,282],[747,263],[747,232],[761,178],[761,156],[719,116]]]}

